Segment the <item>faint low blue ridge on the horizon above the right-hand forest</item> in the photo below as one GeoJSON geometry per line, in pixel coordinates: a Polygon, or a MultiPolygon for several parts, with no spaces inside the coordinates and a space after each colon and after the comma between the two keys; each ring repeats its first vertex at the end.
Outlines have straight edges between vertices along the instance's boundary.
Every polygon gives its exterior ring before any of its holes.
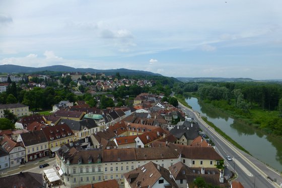
{"type": "Polygon", "coordinates": [[[181,82],[251,82],[256,81],[251,78],[184,78],[184,77],[178,77],[177,80],[180,80],[181,82]]]}

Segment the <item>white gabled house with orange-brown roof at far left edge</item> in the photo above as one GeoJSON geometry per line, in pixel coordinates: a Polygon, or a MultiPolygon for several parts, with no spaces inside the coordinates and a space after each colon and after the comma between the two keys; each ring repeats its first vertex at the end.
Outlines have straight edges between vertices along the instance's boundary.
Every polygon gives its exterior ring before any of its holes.
{"type": "Polygon", "coordinates": [[[21,143],[17,143],[11,137],[4,135],[0,144],[9,153],[10,167],[18,166],[25,162],[26,152],[21,143]]]}

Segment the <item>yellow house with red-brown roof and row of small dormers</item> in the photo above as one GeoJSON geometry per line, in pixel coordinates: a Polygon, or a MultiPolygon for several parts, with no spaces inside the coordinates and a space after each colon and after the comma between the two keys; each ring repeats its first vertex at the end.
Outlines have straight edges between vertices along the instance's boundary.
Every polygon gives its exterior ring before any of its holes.
{"type": "Polygon", "coordinates": [[[61,145],[73,142],[75,139],[73,131],[65,123],[43,127],[42,131],[48,141],[48,148],[51,152],[57,151],[61,145]]]}

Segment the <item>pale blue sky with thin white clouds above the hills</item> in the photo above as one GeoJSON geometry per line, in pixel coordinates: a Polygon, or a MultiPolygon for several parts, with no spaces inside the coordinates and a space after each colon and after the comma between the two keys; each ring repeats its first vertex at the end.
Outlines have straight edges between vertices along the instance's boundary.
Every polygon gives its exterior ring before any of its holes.
{"type": "Polygon", "coordinates": [[[1,0],[7,64],[282,79],[282,1],[1,0]]]}

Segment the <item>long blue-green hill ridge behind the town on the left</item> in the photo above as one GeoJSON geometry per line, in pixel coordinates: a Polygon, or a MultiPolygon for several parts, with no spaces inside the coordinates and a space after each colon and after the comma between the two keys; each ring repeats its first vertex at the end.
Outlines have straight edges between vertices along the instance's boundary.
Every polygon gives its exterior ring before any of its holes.
{"type": "Polygon", "coordinates": [[[97,70],[92,68],[73,68],[67,66],[48,66],[48,67],[23,67],[17,65],[0,65],[1,73],[33,73],[40,71],[54,71],[54,72],[81,72],[81,73],[105,73],[105,75],[112,75],[115,73],[119,73],[120,75],[145,75],[145,76],[162,76],[157,73],[152,73],[148,71],[137,71],[137,70],[129,70],[129,69],[110,69],[110,70],[97,70]]]}

